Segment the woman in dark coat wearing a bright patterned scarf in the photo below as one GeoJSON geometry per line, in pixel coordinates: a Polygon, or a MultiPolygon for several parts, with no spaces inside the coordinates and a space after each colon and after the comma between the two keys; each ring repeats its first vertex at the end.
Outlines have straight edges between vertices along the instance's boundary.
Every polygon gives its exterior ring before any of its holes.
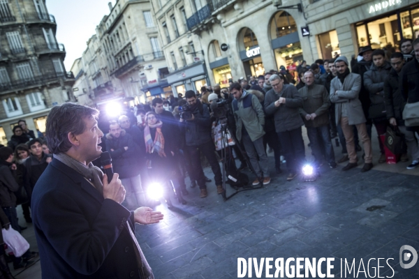
{"type": "Polygon", "coordinates": [[[157,119],[155,112],[145,114],[144,140],[151,180],[164,185],[165,199],[168,209],[172,208],[170,194],[172,185],[175,188],[177,199],[180,203],[186,204],[182,192],[177,183],[179,170],[176,167],[175,151],[177,141],[168,135],[168,126],[157,119]]]}

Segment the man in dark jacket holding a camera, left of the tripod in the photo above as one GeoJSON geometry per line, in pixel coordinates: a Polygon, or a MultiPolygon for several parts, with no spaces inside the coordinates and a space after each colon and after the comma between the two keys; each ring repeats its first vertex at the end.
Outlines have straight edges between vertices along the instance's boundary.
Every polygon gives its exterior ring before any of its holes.
{"type": "Polygon", "coordinates": [[[205,186],[205,176],[199,172],[200,152],[204,154],[214,172],[216,191],[223,193],[223,179],[221,176],[221,167],[215,156],[215,146],[211,137],[211,118],[207,105],[201,103],[195,92],[189,90],[185,93],[188,105],[182,107],[179,120],[179,127],[185,135],[185,149],[191,158],[191,167],[195,174],[198,174],[198,186],[200,188],[200,197],[207,197],[207,186],[205,186]]]}

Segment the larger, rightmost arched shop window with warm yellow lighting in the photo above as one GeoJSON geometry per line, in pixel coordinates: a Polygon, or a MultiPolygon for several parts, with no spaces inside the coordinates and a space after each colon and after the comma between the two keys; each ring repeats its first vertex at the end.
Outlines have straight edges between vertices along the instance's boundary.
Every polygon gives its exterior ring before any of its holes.
{"type": "Polygon", "coordinates": [[[270,36],[278,69],[285,66],[292,73],[303,56],[297,24],[285,10],[279,10],[272,17],[270,36]]]}

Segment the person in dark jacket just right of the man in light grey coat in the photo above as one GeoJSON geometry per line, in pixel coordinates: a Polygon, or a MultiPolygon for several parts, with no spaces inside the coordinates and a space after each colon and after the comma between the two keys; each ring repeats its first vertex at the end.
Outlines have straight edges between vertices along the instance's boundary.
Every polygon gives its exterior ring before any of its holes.
{"type": "Polygon", "coordinates": [[[385,163],[384,144],[380,136],[385,135],[388,126],[384,103],[384,81],[388,73],[390,73],[391,65],[388,61],[385,61],[385,52],[383,50],[374,50],[372,52],[372,61],[372,66],[364,73],[364,85],[369,92],[369,99],[371,100],[368,115],[376,127],[380,145],[381,156],[378,163],[385,163]]]}

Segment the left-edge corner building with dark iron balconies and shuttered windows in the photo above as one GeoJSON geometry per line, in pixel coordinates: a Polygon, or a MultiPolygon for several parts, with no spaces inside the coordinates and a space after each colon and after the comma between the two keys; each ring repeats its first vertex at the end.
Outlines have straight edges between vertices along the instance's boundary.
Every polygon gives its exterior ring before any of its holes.
{"type": "Polygon", "coordinates": [[[0,1],[0,144],[24,119],[31,130],[45,131],[51,107],[75,101],[74,76],[66,72],[64,45],[45,0],[0,1]]]}

